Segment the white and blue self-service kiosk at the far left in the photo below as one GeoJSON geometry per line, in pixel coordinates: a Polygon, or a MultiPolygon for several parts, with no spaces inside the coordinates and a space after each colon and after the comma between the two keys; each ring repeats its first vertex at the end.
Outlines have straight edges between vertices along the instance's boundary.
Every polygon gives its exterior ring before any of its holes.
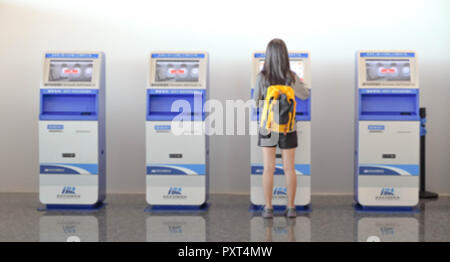
{"type": "Polygon", "coordinates": [[[92,208],[106,194],[105,55],[46,53],[40,86],[39,198],[92,208]]]}

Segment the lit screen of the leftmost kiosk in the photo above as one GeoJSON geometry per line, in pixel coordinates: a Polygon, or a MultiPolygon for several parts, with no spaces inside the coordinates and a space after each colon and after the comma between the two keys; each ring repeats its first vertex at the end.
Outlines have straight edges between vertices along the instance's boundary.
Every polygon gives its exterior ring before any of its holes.
{"type": "Polygon", "coordinates": [[[49,82],[91,82],[92,60],[50,60],[49,82]]]}

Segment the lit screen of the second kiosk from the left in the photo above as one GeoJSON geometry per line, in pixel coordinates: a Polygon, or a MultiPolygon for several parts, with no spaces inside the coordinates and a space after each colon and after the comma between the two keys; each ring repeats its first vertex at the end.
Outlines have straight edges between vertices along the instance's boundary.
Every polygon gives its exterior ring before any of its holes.
{"type": "Polygon", "coordinates": [[[198,82],[198,60],[157,60],[155,81],[157,82],[198,82]]]}

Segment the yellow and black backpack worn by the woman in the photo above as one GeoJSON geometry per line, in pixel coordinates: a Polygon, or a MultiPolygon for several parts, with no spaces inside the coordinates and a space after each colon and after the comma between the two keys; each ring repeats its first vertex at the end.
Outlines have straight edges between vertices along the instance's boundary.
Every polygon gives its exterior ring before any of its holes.
{"type": "Polygon", "coordinates": [[[294,130],[295,92],[287,85],[269,86],[264,98],[260,127],[284,133],[294,130]]]}

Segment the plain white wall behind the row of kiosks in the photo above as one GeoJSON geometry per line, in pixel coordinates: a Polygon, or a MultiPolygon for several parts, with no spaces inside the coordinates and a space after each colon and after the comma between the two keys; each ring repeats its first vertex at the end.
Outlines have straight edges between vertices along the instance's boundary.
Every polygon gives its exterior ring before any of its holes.
{"type": "MultiPolygon", "coordinates": [[[[108,191],[144,192],[152,50],[206,50],[211,98],[249,98],[254,50],[280,37],[312,56],[313,192],[353,191],[354,56],[413,49],[429,111],[428,187],[450,192],[450,1],[1,1],[0,192],[37,191],[46,50],[107,57],[108,191]],[[195,3],[195,5],[193,4],[195,3]]],[[[212,192],[249,191],[249,138],[211,138],[212,192]]]]}

